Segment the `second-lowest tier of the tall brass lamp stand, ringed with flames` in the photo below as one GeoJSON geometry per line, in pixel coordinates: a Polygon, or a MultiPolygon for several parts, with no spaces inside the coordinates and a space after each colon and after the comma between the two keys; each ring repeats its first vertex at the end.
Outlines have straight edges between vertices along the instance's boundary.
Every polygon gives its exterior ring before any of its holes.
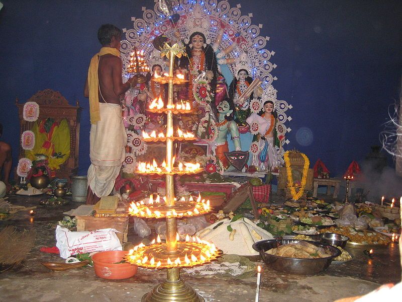
{"type": "MultiPolygon", "coordinates": [[[[203,200],[204,201],[204,200],[203,200]]],[[[131,203],[129,214],[143,218],[189,217],[206,214],[211,211],[210,202],[176,201],[173,206],[164,202],[141,204],[131,203]]]]}

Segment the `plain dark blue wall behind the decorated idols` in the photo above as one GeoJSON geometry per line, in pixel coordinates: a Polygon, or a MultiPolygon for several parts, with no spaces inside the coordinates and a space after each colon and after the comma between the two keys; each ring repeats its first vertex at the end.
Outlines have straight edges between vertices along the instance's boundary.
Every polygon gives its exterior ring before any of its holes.
{"type": "MultiPolygon", "coordinates": [[[[100,24],[132,28],[146,1],[1,0],[0,122],[17,164],[19,121],[16,97],[25,102],[39,90],[59,91],[81,115],[79,174],[89,166],[88,101],[83,84],[99,44],[100,24]],[[137,5],[136,5],[137,3],[137,5]]],[[[361,161],[378,145],[388,105],[398,99],[402,71],[402,2],[229,0],[263,24],[267,49],[278,67],[278,99],[293,105],[289,148],[321,158],[332,175],[361,161]],[[303,141],[312,133],[312,142],[303,141]],[[299,130],[298,139],[296,133],[299,130]],[[301,140],[300,140],[301,139],[301,140]]],[[[308,140],[308,139],[307,139],[308,140]]],[[[391,160],[389,161],[390,164],[391,160]]]]}

